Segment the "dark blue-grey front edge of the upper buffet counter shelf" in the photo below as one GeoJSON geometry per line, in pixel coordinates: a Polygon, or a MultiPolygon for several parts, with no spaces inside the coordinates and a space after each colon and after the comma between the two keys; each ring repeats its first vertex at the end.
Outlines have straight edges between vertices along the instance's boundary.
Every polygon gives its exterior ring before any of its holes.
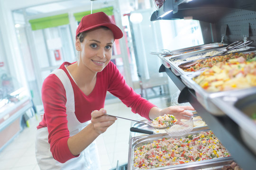
{"type": "MultiPolygon", "coordinates": [[[[238,162],[244,170],[254,169],[253,167],[256,167],[256,155],[242,139],[239,125],[227,115],[216,116],[206,110],[198,101],[195,91],[188,88],[183,83],[181,77],[176,76],[171,68],[166,68],[162,65],[159,72],[166,72],[173,80],[174,84],[181,91],[178,102],[190,102],[221,143],[231,153],[234,161],[238,162]]],[[[225,111],[223,110],[223,112],[225,111]]]]}

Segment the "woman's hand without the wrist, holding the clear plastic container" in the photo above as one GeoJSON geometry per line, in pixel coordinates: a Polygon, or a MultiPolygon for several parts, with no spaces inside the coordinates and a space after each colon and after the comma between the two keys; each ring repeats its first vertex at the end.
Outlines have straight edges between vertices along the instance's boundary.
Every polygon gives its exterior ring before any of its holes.
{"type": "Polygon", "coordinates": [[[189,117],[193,116],[193,113],[186,110],[195,110],[192,106],[170,106],[160,111],[160,116],[165,114],[174,115],[178,120],[180,119],[190,119],[189,117]],[[186,115],[186,116],[183,116],[186,115]],[[189,116],[189,117],[187,117],[189,116]]]}

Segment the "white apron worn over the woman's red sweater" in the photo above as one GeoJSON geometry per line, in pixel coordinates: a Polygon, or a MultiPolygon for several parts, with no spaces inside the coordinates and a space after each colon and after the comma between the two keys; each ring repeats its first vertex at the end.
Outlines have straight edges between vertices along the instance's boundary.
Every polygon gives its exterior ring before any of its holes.
{"type": "MultiPolygon", "coordinates": [[[[56,69],[51,74],[55,74],[64,85],[66,91],[66,113],[68,120],[68,130],[70,136],[80,132],[91,121],[80,123],[75,116],[74,93],[71,82],[63,69],[56,69]]],[[[48,130],[43,127],[37,130],[36,137],[36,157],[41,170],[101,170],[96,143],[91,143],[79,157],[70,159],[65,163],[56,161],[50,151],[48,143],[48,130]]]]}

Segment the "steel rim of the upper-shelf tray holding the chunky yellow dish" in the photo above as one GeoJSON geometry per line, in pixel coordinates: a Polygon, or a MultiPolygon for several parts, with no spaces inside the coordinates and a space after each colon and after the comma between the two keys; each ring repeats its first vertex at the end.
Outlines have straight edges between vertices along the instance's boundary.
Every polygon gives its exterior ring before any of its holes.
{"type": "Polygon", "coordinates": [[[219,108],[218,102],[213,102],[214,99],[218,98],[225,100],[225,106],[228,104],[233,105],[238,99],[245,97],[251,93],[256,92],[256,87],[246,89],[235,89],[221,92],[207,92],[200,85],[192,80],[193,76],[182,75],[181,79],[185,85],[192,88],[195,91],[196,98],[201,105],[208,110],[210,113],[216,116],[223,116],[225,113],[219,108]]]}

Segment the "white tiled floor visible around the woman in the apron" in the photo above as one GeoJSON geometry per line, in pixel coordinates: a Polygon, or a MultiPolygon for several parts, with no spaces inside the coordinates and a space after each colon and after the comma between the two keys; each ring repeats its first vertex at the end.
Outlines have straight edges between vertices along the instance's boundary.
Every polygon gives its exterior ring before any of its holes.
{"type": "MultiPolygon", "coordinates": [[[[160,108],[166,107],[166,99],[152,99],[160,108]]],[[[109,114],[130,119],[144,119],[131,112],[122,102],[107,104],[109,114]]],[[[7,147],[0,152],[0,170],[39,170],[35,157],[35,134],[39,120],[30,120],[26,127],[7,147]]],[[[131,121],[118,119],[107,131],[101,134],[96,143],[99,150],[101,170],[110,170],[128,162],[128,142],[131,121]]]]}

